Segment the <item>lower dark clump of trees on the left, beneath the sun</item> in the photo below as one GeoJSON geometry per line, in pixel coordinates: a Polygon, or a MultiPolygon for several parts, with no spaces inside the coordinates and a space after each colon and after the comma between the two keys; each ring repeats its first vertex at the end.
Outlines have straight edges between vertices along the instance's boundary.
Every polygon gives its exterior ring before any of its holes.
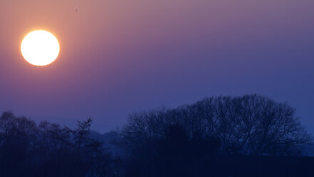
{"type": "Polygon", "coordinates": [[[74,130],[4,112],[0,117],[0,176],[119,176],[120,159],[89,137],[92,119],[74,130]]]}

